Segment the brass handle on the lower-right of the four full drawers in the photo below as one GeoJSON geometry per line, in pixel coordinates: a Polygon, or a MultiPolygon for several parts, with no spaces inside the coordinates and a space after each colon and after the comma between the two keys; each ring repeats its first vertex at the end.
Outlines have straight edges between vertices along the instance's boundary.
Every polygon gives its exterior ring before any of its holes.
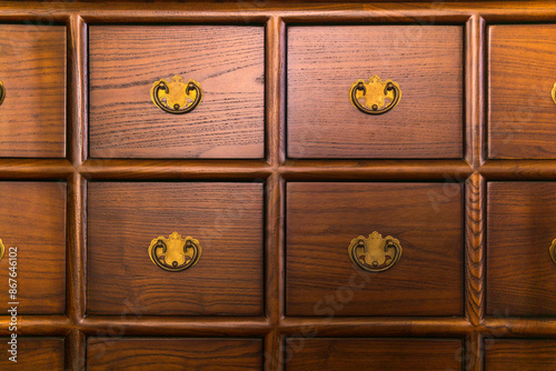
{"type": "Polygon", "coordinates": [[[349,258],[351,261],[370,272],[381,272],[390,269],[401,257],[401,245],[399,241],[378,232],[373,232],[366,239],[363,235],[355,238],[349,243],[349,258]]]}

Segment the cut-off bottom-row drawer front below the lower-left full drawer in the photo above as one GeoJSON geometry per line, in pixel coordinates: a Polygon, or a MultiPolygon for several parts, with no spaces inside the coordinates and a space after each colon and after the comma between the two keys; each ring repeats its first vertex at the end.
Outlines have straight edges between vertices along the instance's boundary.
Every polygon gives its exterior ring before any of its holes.
{"type": "Polygon", "coordinates": [[[102,339],[87,341],[87,370],[262,369],[262,342],[256,339],[102,339]]]}

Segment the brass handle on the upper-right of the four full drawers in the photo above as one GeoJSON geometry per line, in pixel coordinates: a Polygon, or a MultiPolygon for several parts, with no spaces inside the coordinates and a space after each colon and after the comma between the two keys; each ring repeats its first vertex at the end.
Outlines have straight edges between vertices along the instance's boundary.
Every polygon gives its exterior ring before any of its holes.
{"type": "Polygon", "coordinates": [[[383,114],[395,108],[401,98],[399,84],[391,80],[383,80],[373,76],[368,82],[360,79],[351,84],[349,100],[355,108],[368,114],[383,114]],[[360,99],[365,98],[365,104],[360,99]],[[388,103],[386,101],[389,101],[388,103]]]}

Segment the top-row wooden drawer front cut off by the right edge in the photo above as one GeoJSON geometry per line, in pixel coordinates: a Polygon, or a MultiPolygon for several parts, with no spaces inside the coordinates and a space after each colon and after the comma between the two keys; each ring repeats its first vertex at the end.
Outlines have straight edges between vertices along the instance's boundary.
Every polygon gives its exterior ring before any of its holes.
{"type": "Polygon", "coordinates": [[[490,26],[488,152],[555,159],[556,24],[490,26]]]}

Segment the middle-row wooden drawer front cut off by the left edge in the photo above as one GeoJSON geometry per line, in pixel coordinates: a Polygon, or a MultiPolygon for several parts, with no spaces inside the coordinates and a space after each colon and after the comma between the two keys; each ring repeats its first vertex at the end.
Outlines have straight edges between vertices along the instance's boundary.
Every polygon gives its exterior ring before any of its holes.
{"type": "Polygon", "coordinates": [[[9,302],[19,302],[18,314],[64,313],[66,183],[0,182],[0,240],[6,249],[0,260],[2,313],[9,302]],[[17,267],[17,300],[9,293],[10,267],[17,267]]]}

